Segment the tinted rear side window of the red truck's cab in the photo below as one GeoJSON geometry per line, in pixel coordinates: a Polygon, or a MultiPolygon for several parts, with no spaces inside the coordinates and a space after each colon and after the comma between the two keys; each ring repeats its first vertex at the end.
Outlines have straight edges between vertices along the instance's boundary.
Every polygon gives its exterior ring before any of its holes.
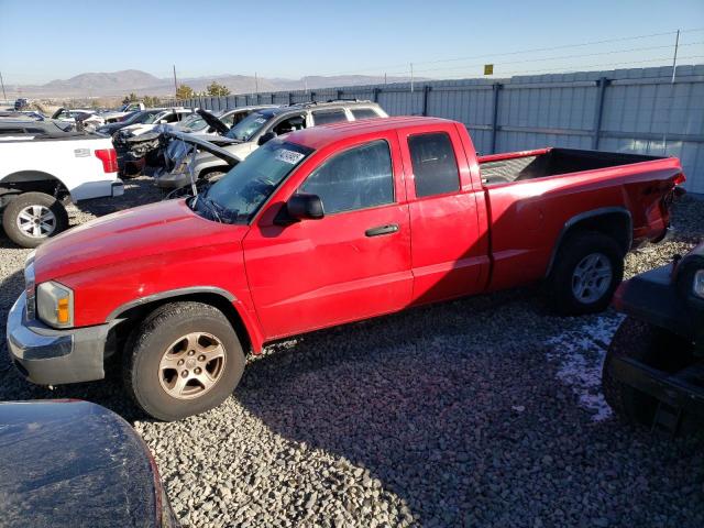
{"type": "Polygon", "coordinates": [[[447,132],[408,138],[416,197],[446,195],[460,190],[460,172],[452,140],[447,132]]]}

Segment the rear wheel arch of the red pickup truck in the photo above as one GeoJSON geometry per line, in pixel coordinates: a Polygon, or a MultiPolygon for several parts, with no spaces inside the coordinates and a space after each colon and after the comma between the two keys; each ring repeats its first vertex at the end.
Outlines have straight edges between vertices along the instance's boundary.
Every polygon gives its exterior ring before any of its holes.
{"type": "Polygon", "coordinates": [[[632,245],[632,226],[630,211],[625,207],[603,207],[575,215],[564,222],[558,234],[548,262],[546,277],[552,273],[560,246],[571,234],[579,231],[596,231],[605,234],[618,243],[625,255],[632,245]]]}

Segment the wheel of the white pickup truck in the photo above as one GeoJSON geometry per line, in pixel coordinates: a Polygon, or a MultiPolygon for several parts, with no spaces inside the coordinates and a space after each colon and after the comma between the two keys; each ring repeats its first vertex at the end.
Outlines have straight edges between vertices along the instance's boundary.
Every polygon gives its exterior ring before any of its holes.
{"type": "Polygon", "coordinates": [[[23,193],[4,208],[2,228],[15,244],[36,248],[68,228],[68,213],[53,196],[23,193]]]}

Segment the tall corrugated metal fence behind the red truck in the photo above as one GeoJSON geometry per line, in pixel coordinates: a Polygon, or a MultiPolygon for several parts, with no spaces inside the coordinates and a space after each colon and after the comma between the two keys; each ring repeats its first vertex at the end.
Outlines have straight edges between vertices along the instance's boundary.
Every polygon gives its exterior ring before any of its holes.
{"type": "MultiPolygon", "coordinates": [[[[178,101],[210,110],[371,99],[391,116],[436,116],[464,123],[484,154],[540,146],[680,157],[685,187],[704,193],[704,65],[438,80],[320,90],[201,97],[178,101]]],[[[175,102],[175,101],[172,101],[175,102]]]]}

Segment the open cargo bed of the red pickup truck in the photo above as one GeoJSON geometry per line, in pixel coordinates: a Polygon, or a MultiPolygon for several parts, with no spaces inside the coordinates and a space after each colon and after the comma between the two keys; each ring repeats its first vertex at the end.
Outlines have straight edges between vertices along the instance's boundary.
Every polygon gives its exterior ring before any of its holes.
{"type": "Polygon", "coordinates": [[[662,160],[662,157],[620,152],[581,151],[576,148],[541,148],[479,156],[482,183],[485,186],[630,165],[653,160],[662,160]]]}

